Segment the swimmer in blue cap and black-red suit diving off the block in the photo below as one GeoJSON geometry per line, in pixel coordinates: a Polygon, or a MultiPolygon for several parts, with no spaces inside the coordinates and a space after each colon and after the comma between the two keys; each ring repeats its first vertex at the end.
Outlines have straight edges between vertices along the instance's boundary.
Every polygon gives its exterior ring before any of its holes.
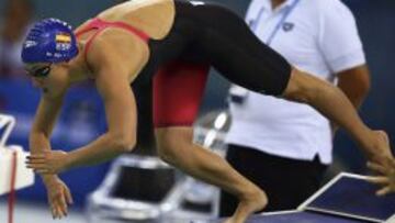
{"type": "Polygon", "coordinates": [[[369,160],[383,164],[392,158],[390,145],[363,124],[340,90],[292,67],[262,44],[241,18],[217,4],[127,1],[104,10],[75,32],[66,22],[46,19],[29,32],[22,59],[33,83],[43,90],[30,134],[27,166],[43,177],[55,218],[65,216],[71,202],[57,174],[133,149],[137,112],[129,85],[153,78],[159,156],[235,194],[239,204],[228,222],[245,222],[262,210],[268,203],[262,190],[192,142],[192,122],[210,66],[249,90],[311,104],[348,131],[369,160]],[[103,99],[108,132],[69,153],[52,150],[49,138],[66,91],[87,79],[94,80],[103,99]]]}

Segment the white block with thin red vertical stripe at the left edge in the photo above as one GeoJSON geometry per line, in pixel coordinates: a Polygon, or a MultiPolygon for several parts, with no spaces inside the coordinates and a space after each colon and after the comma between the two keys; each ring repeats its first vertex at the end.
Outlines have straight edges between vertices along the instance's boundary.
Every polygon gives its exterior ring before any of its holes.
{"type": "Polygon", "coordinates": [[[16,152],[15,187],[19,190],[34,183],[34,172],[26,168],[25,159],[29,153],[21,146],[7,146],[0,148],[0,196],[11,191],[11,175],[13,153],[16,152]]]}

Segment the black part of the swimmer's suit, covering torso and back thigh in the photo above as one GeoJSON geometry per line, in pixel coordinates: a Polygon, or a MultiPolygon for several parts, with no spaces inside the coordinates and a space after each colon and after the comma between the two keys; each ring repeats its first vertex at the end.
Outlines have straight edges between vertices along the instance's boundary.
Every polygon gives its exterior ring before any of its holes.
{"type": "Polygon", "coordinates": [[[163,40],[150,40],[150,57],[138,78],[150,79],[173,60],[210,63],[225,78],[249,90],[282,94],[291,65],[261,43],[233,11],[212,3],[176,0],[176,18],[163,40]]]}

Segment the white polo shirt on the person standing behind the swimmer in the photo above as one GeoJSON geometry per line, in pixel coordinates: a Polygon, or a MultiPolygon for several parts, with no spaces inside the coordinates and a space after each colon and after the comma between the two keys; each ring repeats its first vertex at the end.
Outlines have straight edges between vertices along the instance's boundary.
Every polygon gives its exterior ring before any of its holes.
{"type": "MultiPolygon", "coordinates": [[[[284,14],[270,46],[293,66],[331,81],[337,74],[365,64],[351,11],[339,0],[286,0],[274,11],[270,0],[252,0],[246,21],[264,43],[284,14]]],[[[249,91],[230,102],[228,144],[281,157],[321,163],[332,160],[329,122],[309,105],[249,91]]]]}

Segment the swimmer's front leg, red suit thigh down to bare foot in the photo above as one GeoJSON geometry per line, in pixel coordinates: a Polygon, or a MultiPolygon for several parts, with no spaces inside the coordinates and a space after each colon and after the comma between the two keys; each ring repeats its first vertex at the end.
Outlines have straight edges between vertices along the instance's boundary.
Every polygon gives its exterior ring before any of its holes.
{"type": "Polygon", "coordinates": [[[245,222],[267,203],[266,194],[215,153],[193,143],[192,124],[204,92],[208,66],[173,64],[154,80],[154,122],[159,156],[205,182],[235,194],[233,222],[245,222]]]}

